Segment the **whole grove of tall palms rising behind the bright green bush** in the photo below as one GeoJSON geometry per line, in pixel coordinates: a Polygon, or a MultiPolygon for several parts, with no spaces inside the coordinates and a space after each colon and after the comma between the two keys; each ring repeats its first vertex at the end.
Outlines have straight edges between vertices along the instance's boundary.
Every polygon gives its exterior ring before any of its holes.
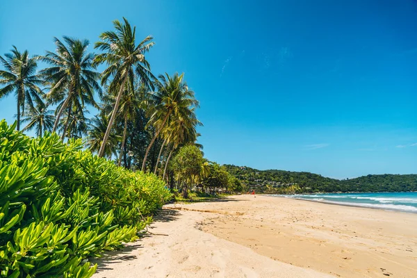
{"type": "Polygon", "coordinates": [[[63,141],[85,138],[100,157],[173,180],[170,158],[199,136],[199,101],[184,74],[152,73],[146,55],[154,38],[140,40],[123,18],[99,35],[98,53],[85,39],[63,36],[54,44],[40,56],[16,47],[0,56],[0,99],[15,94],[17,130],[26,124],[23,131],[39,137],[51,131],[63,141]],[[91,107],[98,111],[92,119],[91,107]]]}

